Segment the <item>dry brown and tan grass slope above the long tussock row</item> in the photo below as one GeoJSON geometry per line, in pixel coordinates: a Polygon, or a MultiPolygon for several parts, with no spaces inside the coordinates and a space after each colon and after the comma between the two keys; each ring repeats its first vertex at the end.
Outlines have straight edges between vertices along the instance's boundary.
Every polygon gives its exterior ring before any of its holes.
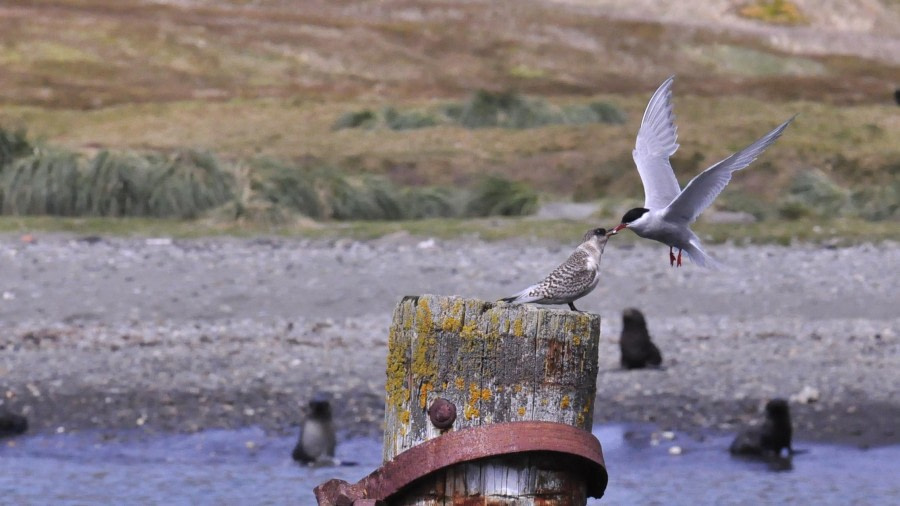
{"type": "Polygon", "coordinates": [[[7,0],[0,126],[79,151],[316,157],[402,184],[495,172],[542,191],[639,199],[630,164],[646,100],[677,72],[684,182],[785,118],[729,191],[772,201],[795,174],[880,184],[900,161],[887,97],[900,69],[789,55],[757,39],[611,20],[545,2],[7,0]],[[735,61],[739,62],[735,64],[735,61]],[[485,88],[611,101],[623,126],[332,131],[363,108],[430,107],[485,88]]]}

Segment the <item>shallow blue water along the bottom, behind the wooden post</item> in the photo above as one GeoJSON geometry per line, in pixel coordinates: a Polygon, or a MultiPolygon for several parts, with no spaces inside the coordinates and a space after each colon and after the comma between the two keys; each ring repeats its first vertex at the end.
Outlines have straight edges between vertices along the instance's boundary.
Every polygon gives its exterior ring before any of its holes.
{"type": "MultiPolygon", "coordinates": [[[[730,437],[666,439],[652,427],[606,425],[606,496],[590,504],[900,504],[900,446],[871,450],[795,442],[791,469],[735,459],[730,437]],[[681,448],[671,455],[670,448],[681,448]]],[[[315,504],[330,478],[355,482],[381,464],[381,443],[343,441],[352,467],[294,464],[293,437],[262,430],[147,436],[84,431],[0,444],[3,504],[315,504]]]]}

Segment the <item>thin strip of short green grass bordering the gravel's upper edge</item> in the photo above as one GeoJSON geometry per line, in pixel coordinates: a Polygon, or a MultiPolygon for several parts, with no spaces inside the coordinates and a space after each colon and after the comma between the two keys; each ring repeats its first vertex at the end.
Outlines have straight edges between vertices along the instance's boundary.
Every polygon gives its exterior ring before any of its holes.
{"type": "MultiPolygon", "coordinates": [[[[600,224],[610,224],[602,221],[600,224]]],[[[504,239],[551,240],[571,244],[585,230],[597,225],[597,220],[534,220],[530,218],[432,218],[407,221],[345,221],[328,226],[311,221],[290,221],[265,224],[243,220],[172,220],[149,218],[59,218],[48,216],[0,216],[0,232],[33,233],[35,231],[63,231],[83,235],[125,235],[202,237],[210,235],[253,236],[260,233],[301,236],[309,238],[374,239],[396,233],[441,239],[478,238],[494,241],[504,239]]],[[[894,222],[870,222],[840,218],[823,223],[804,218],[794,221],[778,220],[751,223],[739,227],[733,224],[700,222],[695,231],[709,244],[791,244],[812,242],[829,245],[864,242],[900,241],[900,227],[894,222]]],[[[616,236],[616,243],[631,244],[642,239],[631,233],[616,236]]]]}

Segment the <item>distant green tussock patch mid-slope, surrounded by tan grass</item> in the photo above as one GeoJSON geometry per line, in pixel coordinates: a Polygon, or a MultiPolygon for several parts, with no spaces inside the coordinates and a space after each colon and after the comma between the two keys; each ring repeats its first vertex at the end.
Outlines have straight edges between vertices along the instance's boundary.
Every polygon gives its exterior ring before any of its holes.
{"type": "Polygon", "coordinates": [[[547,125],[585,125],[625,123],[625,113],[617,106],[594,101],[585,105],[555,106],[546,100],[525,97],[514,92],[478,91],[466,102],[450,103],[427,111],[398,111],[385,108],[380,115],[369,109],[341,114],[332,130],[372,129],[413,130],[437,125],[464,128],[540,128],[547,125]]]}

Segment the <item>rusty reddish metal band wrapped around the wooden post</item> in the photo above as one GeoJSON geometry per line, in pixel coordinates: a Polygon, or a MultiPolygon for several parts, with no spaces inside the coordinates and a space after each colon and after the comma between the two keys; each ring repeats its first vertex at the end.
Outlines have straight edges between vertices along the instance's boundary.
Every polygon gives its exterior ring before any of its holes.
{"type": "Polygon", "coordinates": [[[443,468],[486,457],[556,452],[584,463],[589,497],[602,497],[608,475],[600,441],[590,432],[556,422],[509,422],[447,432],[385,462],[356,484],[330,480],[315,488],[320,506],[384,500],[443,468]]]}

